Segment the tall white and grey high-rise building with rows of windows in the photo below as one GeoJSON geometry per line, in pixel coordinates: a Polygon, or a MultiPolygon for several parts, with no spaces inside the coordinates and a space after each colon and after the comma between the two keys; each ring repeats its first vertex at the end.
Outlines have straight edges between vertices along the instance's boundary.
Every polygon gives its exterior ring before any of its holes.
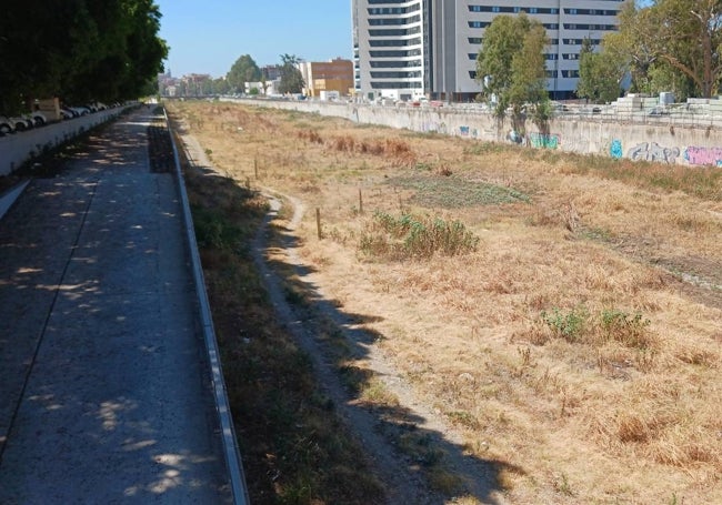
{"type": "Polygon", "coordinates": [[[615,31],[622,0],[351,0],[354,88],[368,99],[389,97],[465,101],[480,91],[477,54],[497,16],[539,20],[552,98],[571,98],[584,39],[596,48],[615,31]]]}

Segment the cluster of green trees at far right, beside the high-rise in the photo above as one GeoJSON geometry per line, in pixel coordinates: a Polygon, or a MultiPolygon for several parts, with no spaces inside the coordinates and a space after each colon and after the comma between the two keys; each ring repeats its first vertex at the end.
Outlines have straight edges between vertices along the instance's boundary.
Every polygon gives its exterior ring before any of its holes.
{"type": "Polygon", "coordinates": [[[578,92],[609,101],[613,82],[629,74],[634,92],[710,98],[721,83],[721,51],[720,0],[658,0],[642,9],[629,2],[602,50],[582,51],[578,92]]]}

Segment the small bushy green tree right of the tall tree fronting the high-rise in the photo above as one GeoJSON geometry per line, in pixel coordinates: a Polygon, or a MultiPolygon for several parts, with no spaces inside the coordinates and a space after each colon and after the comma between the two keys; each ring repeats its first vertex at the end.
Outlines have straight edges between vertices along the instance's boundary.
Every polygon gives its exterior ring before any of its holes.
{"type": "Polygon", "coordinates": [[[594,103],[612,102],[621,92],[620,82],[626,65],[613,52],[594,52],[592,41],[584,39],[579,55],[579,82],[576,95],[594,103]]]}

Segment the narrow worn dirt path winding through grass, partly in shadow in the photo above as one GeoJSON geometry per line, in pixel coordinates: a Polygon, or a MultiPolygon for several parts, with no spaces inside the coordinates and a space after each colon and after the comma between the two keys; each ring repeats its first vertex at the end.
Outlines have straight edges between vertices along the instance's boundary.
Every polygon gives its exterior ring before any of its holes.
{"type": "MultiPolygon", "coordinates": [[[[293,214],[287,228],[289,234],[283,240],[284,254],[288,263],[299,271],[304,270],[304,265],[292,244],[292,234],[303,218],[305,206],[300,200],[279,194],[270,189],[264,189],[264,193],[269,198],[271,212],[255,235],[252,248],[255,265],[265,281],[270,299],[280,320],[311,356],[319,383],[323,384],[327,394],[337,405],[338,412],[341,413],[363,446],[367,447],[382,475],[382,479],[388,484],[389,503],[445,503],[442,496],[429,489],[423,475],[419,472],[418,463],[409,461],[408,457],[393,448],[393,438],[389,435],[391,435],[390,432],[398,432],[399,430],[421,431],[429,435],[432,443],[441,448],[447,466],[463,482],[463,495],[471,495],[481,503],[503,503],[499,494],[493,493],[498,484],[491,464],[463,454],[461,436],[417,397],[413,390],[391,366],[390,361],[384,357],[381,350],[369,343],[369,335],[364,335],[362,330],[354,329],[354,322],[348,315],[341,313],[332,303],[328,302],[330,297],[324,294],[323,287],[314,282],[312,273],[307,272],[305,276],[310,276],[307,283],[313,286],[312,289],[315,291],[315,296],[313,296],[315,302],[312,310],[317,314],[333,321],[335,327],[341,331],[352,349],[362,345],[364,362],[373,371],[374,376],[379,377],[384,386],[399,398],[400,408],[395,413],[379,413],[371,412],[354,403],[341,384],[333,370],[333,364],[324,360],[323,349],[314,339],[313,324],[307,324],[309,321],[303,321],[304,315],[297,314],[294,307],[287,302],[281,280],[265,261],[269,223],[278,216],[282,201],[287,201],[293,206],[293,214]],[[407,423],[402,427],[397,426],[400,418],[402,418],[402,423],[407,423]],[[409,426],[409,423],[413,426],[409,426]]],[[[361,358],[362,356],[358,357],[361,358]]]]}

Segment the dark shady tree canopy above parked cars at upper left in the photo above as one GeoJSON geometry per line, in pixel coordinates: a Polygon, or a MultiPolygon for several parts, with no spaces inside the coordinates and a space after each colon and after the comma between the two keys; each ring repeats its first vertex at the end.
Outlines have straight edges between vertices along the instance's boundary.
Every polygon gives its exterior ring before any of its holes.
{"type": "Polygon", "coordinates": [[[168,55],[153,0],[26,0],[0,14],[0,110],[152,93],[168,55]]]}

